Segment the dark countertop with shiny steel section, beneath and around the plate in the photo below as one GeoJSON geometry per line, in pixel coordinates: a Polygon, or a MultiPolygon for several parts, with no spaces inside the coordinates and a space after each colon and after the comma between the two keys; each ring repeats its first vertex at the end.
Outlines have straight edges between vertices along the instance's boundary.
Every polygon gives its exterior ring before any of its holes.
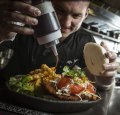
{"type": "Polygon", "coordinates": [[[7,95],[4,94],[4,88],[0,86],[0,115],[119,115],[120,88],[113,88],[109,91],[99,91],[99,93],[103,98],[102,101],[88,110],[77,113],[48,113],[37,109],[30,109],[29,107],[26,108],[24,105],[21,106],[18,103],[15,104],[13,100],[8,101],[7,95]]]}

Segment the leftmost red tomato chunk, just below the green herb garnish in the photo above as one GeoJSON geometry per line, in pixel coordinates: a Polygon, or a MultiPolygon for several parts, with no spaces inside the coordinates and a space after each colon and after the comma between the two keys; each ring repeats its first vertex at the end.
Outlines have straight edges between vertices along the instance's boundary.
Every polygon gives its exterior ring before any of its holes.
{"type": "Polygon", "coordinates": [[[62,77],[60,81],[58,82],[57,86],[58,88],[62,88],[67,86],[70,83],[71,79],[69,77],[62,77]]]}

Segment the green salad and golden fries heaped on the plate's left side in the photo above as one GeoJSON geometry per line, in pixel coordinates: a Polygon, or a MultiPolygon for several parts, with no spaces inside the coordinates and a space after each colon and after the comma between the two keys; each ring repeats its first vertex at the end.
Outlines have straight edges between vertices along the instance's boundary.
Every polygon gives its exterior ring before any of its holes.
{"type": "Polygon", "coordinates": [[[49,68],[46,64],[42,64],[40,69],[35,69],[27,75],[18,75],[10,77],[8,81],[8,86],[21,94],[28,94],[36,96],[36,94],[42,91],[42,78],[49,77],[53,79],[58,76],[55,73],[55,68],[49,68]]]}

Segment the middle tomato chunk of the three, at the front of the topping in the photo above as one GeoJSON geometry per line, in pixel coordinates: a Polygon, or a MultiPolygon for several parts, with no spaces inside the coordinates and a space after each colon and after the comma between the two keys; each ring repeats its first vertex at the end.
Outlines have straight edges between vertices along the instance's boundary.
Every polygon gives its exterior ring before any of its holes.
{"type": "Polygon", "coordinates": [[[71,91],[71,94],[78,94],[80,93],[81,91],[83,91],[85,88],[82,87],[81,85],[77,85],[77,84],[71,84],[70,85],[70,91],[71,91]]]}

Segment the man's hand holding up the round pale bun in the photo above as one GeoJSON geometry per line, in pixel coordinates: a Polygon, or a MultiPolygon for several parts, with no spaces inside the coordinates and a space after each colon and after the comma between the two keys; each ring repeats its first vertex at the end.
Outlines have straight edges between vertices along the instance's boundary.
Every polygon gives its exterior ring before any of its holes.
{"type": "Polygon", "coordinates": [[[104,72],[101,72],[100,76],[96,76],[97,82],[103,86],[111,85],[114,81],[117,73],[118,63],[116,62],[117,54],[109,51],[107,45],[101,42],[101,46],[106,49],[106,57],[109,59],[109,63],[103,64],[104,72]]]}

